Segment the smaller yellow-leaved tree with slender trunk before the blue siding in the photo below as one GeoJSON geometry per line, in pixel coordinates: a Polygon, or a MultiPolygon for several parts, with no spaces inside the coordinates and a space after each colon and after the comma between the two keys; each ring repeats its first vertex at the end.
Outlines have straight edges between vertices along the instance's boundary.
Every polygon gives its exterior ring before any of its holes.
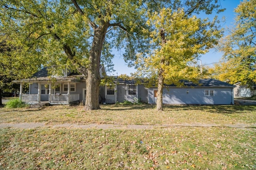
{"type": "MultiPolygon", "coordinates": [[[[164,84],[181,86],[181,79],[195,80],[200,71],[193,67],[200,54],[204,54],[218,43],[222,30],[214,18],[197,18],[195,14],[211,14],[218,8],[217,1],[186,0],[174,1],[159,12],[148,13],[148,25],[152,30],[152,54],[138,57],[138,71],[148,74],[150,79],[157,79],[157,110],[162,110],[164,84]],[[193,15],[194,14],[194,15],[193,15]]],[[[221,11],[221,10],[220,10],[221,11]]],[[[220,12],[219,11],[219,12],[220,12]]]]}

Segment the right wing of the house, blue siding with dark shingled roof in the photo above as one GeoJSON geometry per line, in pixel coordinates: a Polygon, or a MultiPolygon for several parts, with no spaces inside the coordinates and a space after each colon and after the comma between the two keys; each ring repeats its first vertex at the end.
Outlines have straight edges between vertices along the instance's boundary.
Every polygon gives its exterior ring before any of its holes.
{"type": "MultiPolygon", "coordinates": [[[[167,85],[163,89],[163,104],[231,105],[233,88],[216,79],[200,79],[198,84],[184,81],[183,87],[167,85]]],[[[148,89],[148,103],[156,103],[157,87],[148,89]]]]}

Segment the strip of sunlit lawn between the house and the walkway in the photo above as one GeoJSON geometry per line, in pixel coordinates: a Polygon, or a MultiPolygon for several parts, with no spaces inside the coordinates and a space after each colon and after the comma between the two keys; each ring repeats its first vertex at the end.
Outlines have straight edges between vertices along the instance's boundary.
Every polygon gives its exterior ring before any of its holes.
{"type": "Polygon", "coordinates": [[[136,124],[170,125],[174,123],[254,124],[256,106],[242,105],[101,105],[100,110],[84,111],[83,106],[52,106],[44,109],[0,108],[0,123],[44,122],[48,124],[136,124]]]}

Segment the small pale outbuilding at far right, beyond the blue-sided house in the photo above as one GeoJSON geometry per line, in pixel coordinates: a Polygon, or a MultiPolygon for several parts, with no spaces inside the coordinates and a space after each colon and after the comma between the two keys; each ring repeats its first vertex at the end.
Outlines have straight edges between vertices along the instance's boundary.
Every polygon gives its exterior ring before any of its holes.
{"type": "Polygon", "coordinates": [[[249,88],[248,85],[242,85],[240,82],[234,84],[234,97],[252,97],[256,95],[256,85],[249,88]]]}

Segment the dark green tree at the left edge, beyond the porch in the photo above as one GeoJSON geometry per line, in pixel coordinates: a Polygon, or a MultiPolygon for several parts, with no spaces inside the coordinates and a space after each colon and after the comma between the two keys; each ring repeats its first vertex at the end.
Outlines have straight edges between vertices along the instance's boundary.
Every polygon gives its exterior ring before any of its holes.
{"type": "Polygon", "coordinates": [[[3,91],[19,89],[19,85],[12,81],[28,78],[40,68],[40,58],[34,54],[24,57],[21,46],[12,44],[12,39],[7,35],[0,35],[0,95],[3,91]]]}

